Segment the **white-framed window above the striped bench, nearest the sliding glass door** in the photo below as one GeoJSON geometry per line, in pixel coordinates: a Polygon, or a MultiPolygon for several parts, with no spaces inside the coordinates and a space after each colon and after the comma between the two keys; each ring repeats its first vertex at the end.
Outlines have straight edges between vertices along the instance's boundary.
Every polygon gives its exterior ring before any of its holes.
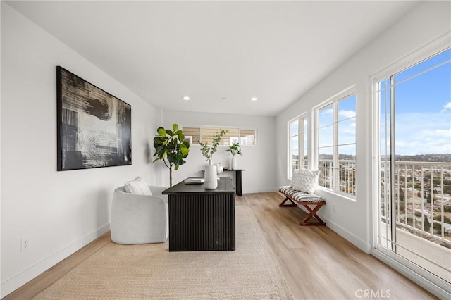
{"type": "Polygon", "coordinates": [[[356,95],[340,94],[317,111],[319,185],[355,196],[356,95]]]}

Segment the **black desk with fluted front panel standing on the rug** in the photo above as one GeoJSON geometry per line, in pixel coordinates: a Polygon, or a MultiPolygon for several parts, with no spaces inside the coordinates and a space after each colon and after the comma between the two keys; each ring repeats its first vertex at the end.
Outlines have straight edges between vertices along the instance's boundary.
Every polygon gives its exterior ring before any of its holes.
{"type": "Polygon", "coordinates": [[[216,189],[180,182],[169,196],[169,251],[235,250],[235,189],[222,177],[216,189]]]}

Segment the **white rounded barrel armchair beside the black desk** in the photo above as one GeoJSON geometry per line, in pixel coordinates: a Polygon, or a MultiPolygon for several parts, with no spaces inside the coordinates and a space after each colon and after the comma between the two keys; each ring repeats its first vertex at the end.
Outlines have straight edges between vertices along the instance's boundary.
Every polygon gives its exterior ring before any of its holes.
{"type": "Polygon", "coordinates": [[[163,243],[168,239],[166,187],[149,186],[152,196],[130,194],[124,187],[113,193],[111,240],[117,244],[163,243]]]}

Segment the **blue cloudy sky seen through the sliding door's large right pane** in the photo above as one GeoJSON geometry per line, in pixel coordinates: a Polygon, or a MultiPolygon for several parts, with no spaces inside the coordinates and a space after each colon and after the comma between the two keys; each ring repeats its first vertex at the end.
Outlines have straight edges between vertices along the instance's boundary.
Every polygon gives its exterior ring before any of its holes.
{"type": "Polygon", "coordinates": [[[448,49],[395,76],[396,154],[451,154],[450,60],[448,49]]]}

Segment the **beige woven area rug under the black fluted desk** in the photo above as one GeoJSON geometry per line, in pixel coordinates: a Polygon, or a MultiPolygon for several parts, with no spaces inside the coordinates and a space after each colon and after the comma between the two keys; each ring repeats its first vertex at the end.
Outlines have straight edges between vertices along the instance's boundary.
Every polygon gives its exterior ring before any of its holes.
{"type": "Polygon", "coordinates": [[[34,299],[292,299],[251,209],[235,214],[235,251],[110,243],[34,299]]]}

